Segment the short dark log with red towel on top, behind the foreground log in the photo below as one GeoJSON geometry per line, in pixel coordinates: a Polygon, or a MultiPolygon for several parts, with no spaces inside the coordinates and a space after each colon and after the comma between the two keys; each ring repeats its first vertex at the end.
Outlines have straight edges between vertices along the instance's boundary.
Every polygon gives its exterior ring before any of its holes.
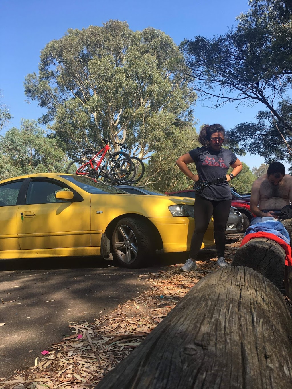
{"type": "Polygon", "coordinates": [[[280,289],[285,275],[285,250],[267,238],[253,238],[236,250],[231,266],[246,266],[259,272],[280,289]]]}

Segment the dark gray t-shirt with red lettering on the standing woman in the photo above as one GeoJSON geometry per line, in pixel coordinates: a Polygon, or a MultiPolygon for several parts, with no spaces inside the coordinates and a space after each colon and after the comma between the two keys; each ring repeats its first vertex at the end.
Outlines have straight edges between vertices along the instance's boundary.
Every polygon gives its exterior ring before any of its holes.
{"type": "MultiPolygon", "coordinates": [[[[189,151],[189,154],[195,162],[199,177],[208,182],[224,177],[229,166],[237,159],[232,151],[223,148],[213,151],[208,147],[197,147],[189,151]]],[[[227,181],[212,184],[202,189],[200,196],[208,200],[230,200],[230,186],[227,181]]]]}

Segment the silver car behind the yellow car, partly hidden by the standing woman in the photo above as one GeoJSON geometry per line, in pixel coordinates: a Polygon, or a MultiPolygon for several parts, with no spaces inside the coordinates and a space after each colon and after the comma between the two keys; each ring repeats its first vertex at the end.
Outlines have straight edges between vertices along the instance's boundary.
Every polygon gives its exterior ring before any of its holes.
{"type": "MultiPolygon", "coordinates": [[[[156,196],[168,196],[165,193],[158,192],[155,189],[147,188],[145,186],[130,186],[130,185],[117,185],[118,188],[123,189],[127,193],[132,195],[156,195],[156,196]]],[[[179,195],[178,195],[179,196],[179,195]]],[[[226,234],[239,233],[243,230],[244,219],[237,208],[231,207],[229,212],[229,218],[225,227],[226,234]]]]}

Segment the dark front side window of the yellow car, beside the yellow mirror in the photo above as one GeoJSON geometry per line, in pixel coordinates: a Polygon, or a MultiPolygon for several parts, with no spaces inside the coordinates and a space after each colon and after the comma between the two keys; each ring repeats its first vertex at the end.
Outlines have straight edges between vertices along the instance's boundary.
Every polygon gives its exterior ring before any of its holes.
{"type": "Polygon", "coordinates": [[[32,180],[28,184],[26,193],[26,204],[49,204],[49,203],[63,203],[62,199],[56,198],[58,191],[69,191],[68,187],[62,186],[62,183],[32,180]]]}

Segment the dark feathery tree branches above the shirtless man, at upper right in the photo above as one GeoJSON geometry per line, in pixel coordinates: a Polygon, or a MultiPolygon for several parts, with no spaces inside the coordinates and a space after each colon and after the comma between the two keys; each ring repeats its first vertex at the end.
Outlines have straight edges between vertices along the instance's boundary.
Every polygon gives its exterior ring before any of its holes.
{"type": "Polygon", "coordinates": [[[250,0],[250,10],[225,35],[198,36],[181,44],[198,95],[215,107],[227,102],[262,103],[256,123],[241,123],[229,138],[237,152],[245,149],[266,158],[291,160],[292,138],[291,0],[250,0]],[[272,147],[272,139],[274,139],[272,147]],[[276,149],[274,151],[274,149],[276,149]],[[283,153],[285,155],[283,155],[283,153]]]}

